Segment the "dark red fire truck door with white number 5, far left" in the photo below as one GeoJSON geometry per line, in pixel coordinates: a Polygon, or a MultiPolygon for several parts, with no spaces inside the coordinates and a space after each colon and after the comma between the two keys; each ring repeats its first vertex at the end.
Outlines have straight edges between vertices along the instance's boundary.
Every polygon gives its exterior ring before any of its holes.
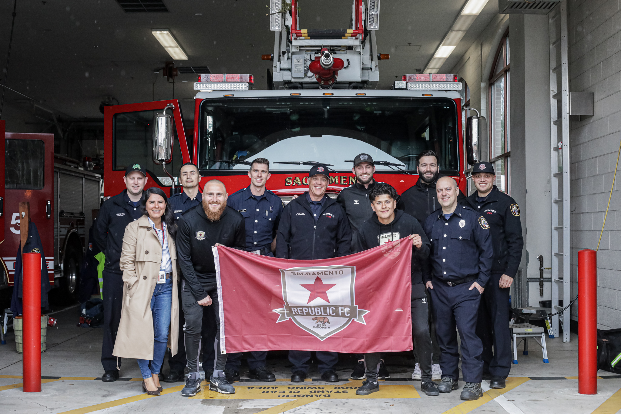
{"type": "MultiPolygon", "coordinates": [[[[1,128],[1,127],[0,127],[1,128]]],[[[30,203],[30,222],[39,230],[50,282],[54,282],[54,134],[5,133],[2,139],[4,243],[2,261],[12,285],[20,244],[19,202],[30,203]]],[[[25,252],[29,253],[29,252],[25,252]]]]}

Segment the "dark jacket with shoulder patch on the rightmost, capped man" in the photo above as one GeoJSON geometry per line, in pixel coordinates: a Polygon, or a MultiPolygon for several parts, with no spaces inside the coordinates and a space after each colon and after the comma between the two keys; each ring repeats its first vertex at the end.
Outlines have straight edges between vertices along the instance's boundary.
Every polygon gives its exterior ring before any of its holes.
{"type": "Polygon", "coordinates": [[[461,205],[467,205],[483,215],[491,227],[492,244],[494,245],[492,274],[506,274],[515,277],[524,248],[520,207],[512,197],[499,191],[496,186],[487,194],[483,202],[478,202],[477,196],[478,192],[474,192],[474,194],[461,200],[461,205]]]}

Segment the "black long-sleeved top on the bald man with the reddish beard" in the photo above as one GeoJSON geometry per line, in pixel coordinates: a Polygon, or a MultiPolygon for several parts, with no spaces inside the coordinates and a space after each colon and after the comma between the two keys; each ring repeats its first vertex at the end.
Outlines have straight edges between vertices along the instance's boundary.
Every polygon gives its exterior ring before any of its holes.
{"type": "Polygon", "coordinates": [[[243,216],[227,206],[217,222],[207,218],[199,204],[181,215],[177,230],[177,259],[186,280],[186,287],[196,301],[207,297],[202,284],[215,282],[214,253],[211,246],[246,247],[246,226],[243,216]]]}

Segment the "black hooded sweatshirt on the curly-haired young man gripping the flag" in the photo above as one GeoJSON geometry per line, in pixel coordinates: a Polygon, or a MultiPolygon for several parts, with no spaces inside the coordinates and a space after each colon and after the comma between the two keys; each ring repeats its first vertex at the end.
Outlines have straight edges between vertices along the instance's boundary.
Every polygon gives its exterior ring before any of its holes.
{"type": "Polygon", "coordinates": [[[423,242],[420,248],[412,246],[412,299],[421,299],[425,297],[422,266],[429,257],[430,243],[418,220],[401,210],[394,210],[394,220],[390,224],[382,224],[378,215],[373,213],[371,218],[360,226],[358,251],[368,250],[412,234],[420,235],[423,242]]]}

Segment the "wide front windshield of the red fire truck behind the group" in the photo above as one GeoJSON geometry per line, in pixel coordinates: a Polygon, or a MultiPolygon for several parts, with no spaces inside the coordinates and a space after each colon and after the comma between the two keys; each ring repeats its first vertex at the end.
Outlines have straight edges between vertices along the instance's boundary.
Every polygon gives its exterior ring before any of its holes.
{"type": "Polygon", "coordinates": [[[206,99],[199,131],[202,170],[247,170],[233,161],[258,157],[270,169],[308,169],[274,161],[318,161],[348,170],[345,160],[358,153],[412,170],[425,150],[438,154],[441,169],[458,169],[457,109],[446,98],[206,99]]]}

